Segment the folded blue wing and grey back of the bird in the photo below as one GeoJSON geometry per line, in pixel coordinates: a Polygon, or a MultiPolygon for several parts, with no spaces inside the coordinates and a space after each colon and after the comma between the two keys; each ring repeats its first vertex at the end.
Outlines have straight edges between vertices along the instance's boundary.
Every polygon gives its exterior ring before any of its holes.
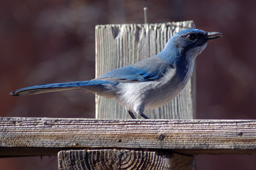
{"type": "Polygon", "coordinates": [[[115,69],[97,77],[94,80],[108,80],[118,82],[154,81],[172,68],[172,65],[154,56],[138,63],[115,69]]]}

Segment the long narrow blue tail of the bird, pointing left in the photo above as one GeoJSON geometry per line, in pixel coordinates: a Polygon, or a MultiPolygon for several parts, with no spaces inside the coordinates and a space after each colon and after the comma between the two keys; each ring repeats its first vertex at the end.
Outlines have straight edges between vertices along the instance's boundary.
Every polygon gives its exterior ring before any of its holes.
{"type": "Polygon", "coordinates": [[[56,92],[56,91],[87,90],[87,89],[92,92],[97,92],[98,90],[99,91],[106,90],[106,86],[104,85],[113,84],[113,83],[114,82],[111,82],[111,81],[92,80],[92,81],[75,81],[75,82],[69,82],[69,83],[41,84],[38,86],[32,86],[32,87],[27,87],[27,88],[12,91],[10,95],[20,96],[20,95],[39,94],[39,93],[56,92]]]}

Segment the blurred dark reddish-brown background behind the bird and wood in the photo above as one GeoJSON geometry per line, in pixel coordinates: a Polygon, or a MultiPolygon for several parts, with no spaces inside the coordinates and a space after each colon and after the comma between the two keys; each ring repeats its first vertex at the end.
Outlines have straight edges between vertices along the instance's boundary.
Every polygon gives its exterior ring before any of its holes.
{"type": "MultiPolygon", "coordinates": [[[[1,117],[94,118],[93,94],[10,97],[95,75],[95,25],[194,20],[223,37],[197,57],[197,118],[256,119],[256,3],[242,0],[5,0],[0,5],[1,117]]],[[[1,151],[0,151],[1,152],[1,151]]],[[[256,169],[254,155],[199,155],[197,167],[256,169]]],[[[57,169],[57,157],[0,158],[0,169],[57,169]],[[14,163],[15,162],[15,163],[14,163]]]]}

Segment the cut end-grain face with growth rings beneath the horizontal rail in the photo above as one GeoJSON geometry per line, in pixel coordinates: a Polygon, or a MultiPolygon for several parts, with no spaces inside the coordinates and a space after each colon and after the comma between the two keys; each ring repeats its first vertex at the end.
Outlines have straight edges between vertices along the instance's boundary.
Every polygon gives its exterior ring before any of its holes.
{"type": "Polygon", "coordinates": [[[58,167],[59,170],[169,170],[170,159],[151,151],[71,150],[58,153],[58,167]]]}

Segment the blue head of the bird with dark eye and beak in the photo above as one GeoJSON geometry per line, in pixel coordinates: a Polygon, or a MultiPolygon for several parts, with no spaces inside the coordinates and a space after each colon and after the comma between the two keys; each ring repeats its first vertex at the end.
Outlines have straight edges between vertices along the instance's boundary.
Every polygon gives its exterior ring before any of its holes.
{"type": "Polygon", "coordinates": [[[166,47],[167,49],[175,49],[180,56],[185,56],[187,59],[195,59],[207,46],[209,40],[222,36],[216,34],[221,33],[206,32],[198,29],[180,31],[170,38],[166,47]]]}

